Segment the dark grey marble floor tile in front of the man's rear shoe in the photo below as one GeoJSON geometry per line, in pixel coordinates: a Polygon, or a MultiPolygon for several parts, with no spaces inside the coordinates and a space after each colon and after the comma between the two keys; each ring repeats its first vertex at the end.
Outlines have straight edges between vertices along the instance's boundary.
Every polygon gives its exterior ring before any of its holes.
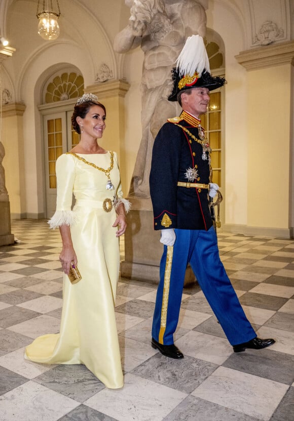
{"type": "Polygon", "coordinates": [[[131,373],[180,392],[191,393],[217,367],[216,364],[187,355],[181,360],[174,360],[156,354],[134,368],[131,373]]]}

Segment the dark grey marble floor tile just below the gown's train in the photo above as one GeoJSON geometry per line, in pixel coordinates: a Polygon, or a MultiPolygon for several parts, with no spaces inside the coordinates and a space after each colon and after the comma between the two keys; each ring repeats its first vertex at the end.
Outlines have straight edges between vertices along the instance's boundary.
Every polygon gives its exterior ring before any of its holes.
{"type": "Polygon", "coordinates": [[[33,381],[81,403],[105,387],[83,364],[58,365],[33,381]]]}

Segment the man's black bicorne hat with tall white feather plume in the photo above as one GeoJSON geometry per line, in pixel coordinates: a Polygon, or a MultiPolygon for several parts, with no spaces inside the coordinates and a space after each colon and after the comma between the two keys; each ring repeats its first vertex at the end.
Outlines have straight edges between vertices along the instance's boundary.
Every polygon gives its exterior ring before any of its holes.
{"type": "Polygon", "coordinates": [[[210,74],[209,60],[203,38],[192,35],[187,38],[172,69],[173,89],[169,101],[177,101],[178,94],[192,88],[207,88],[209,91],[220,88],[226,83],[224,77],[210,74]]]}

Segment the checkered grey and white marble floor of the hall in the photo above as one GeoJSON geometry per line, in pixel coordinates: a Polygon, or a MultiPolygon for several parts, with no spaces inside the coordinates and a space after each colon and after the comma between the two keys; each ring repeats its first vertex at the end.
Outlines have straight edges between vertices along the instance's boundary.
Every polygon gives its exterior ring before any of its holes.
{"type": "MultiPolygon", "coordinates": [[[[13,221],[20,241],[0,247],[2,421],[293,421],[294,240],[218,232],[224,265],[245,313],[276,344],[235,354],[195,283],[184,289],[176,361],[152,349],[156,285],[120,279],[117,298],[125,386],[106,389],[83,365],[23,359],[40,334],[58,332],[59,232],[13,221]]],[[[121,248],[123,256],[123,243],[121,248]]]]}

